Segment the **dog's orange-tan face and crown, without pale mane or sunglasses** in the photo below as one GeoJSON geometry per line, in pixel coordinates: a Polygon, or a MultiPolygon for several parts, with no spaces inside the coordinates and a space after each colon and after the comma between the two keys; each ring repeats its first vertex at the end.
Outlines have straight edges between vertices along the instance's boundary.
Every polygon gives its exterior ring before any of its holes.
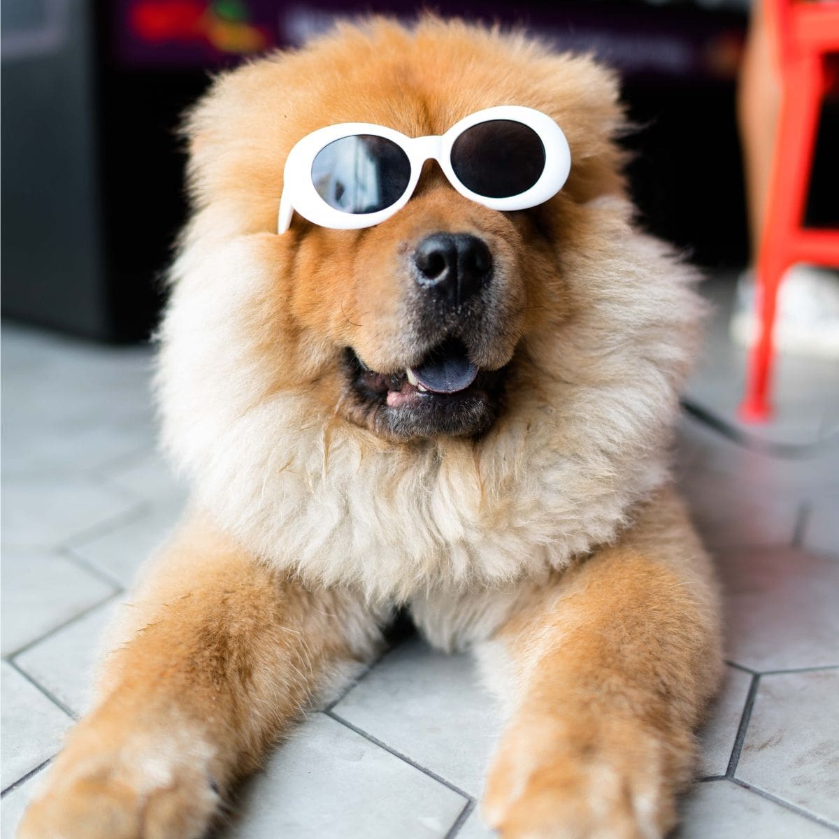
{"type": "Polygon", "coordinates": [[[620,190],[612,75],[463,25],[428,21],[412,37],[377,23],[222,78],[190,120],[199,206],[226,214],[222,235],[271,234],[285,159],[312,130],[368,122],[442,134],[511,103],[548,113],[571,143],[571,178],[550,201],[491,210],[429,162],[387,221],[332,230],[295,214],[269,248],[278,367],[291,380],[296,370],[297,384],[319,381],[321,401],[378,435],[477,435],[505,396],[515,398],[508,379],[523,339],[568,311],[561,260],[571,207],[620,190]],[[314,376],[312,359],[298,367],[288,341],[322,351],[314,376]],[[427,389],[412,375],[423,369],[455,381],[427,389]]]}

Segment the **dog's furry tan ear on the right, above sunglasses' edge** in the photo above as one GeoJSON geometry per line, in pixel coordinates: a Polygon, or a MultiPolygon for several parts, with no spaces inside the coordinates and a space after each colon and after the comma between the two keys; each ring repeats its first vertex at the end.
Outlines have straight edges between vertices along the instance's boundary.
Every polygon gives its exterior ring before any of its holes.
{"type": "Polygon", "coordinates": [[[543,96],[571,147],[564,190],[576,201],[623,195],[627,153],[618,145],[627,119],[618,74],[590,55],[550,55],[541,62],[543,96]]]}

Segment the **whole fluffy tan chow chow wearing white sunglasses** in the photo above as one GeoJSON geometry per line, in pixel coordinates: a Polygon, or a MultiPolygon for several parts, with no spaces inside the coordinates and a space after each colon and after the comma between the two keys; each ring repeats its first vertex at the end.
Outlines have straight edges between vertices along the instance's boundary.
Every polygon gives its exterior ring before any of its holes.
{"type": "Polygon", "coordinates": [[[590,58],[437,18],[215,81],[160,330],[190,510],[20,836],[201,836],[398,607],[501,697],[487,825],[673,826],[721,669],[669,471],[701,305],[623,127],[590,58]]]}

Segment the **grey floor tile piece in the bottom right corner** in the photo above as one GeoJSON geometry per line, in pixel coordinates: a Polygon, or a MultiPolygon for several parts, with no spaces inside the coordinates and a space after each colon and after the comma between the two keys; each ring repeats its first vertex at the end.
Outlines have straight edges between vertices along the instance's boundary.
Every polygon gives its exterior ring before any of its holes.
{"type": "Polygon", "coordinates": [[[731,781],[696,784],[670,839],[836,839],[836,833],[731,781]]]}

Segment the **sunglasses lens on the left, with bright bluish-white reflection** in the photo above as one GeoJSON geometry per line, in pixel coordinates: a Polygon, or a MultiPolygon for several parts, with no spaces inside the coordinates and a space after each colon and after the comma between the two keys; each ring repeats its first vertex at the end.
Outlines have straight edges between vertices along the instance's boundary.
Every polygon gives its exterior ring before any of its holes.
{"type": "Polygon", "coordinates": [[[411,176],[408,155],[373,134],[342,137],[325,146],[312,163],[312,183],[329,206],[341,212],[383,210],[404,195],[411,176]]]}

